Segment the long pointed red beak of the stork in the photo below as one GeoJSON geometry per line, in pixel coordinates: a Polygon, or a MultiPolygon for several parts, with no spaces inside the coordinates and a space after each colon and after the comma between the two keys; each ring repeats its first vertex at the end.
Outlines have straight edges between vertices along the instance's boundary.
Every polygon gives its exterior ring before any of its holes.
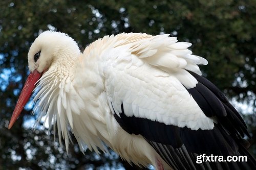
{"type": "Polygon", "coordinates": [[[19,114],[22,112],[24,106],[27,104],[34,88],[36,82],[40,79],[42,73],[39,73],[37,70],[31,72],[26,80],[26,83],[22,89],[22,92],[19,95],[18,102],[15,106],[15,109],[12,113],[12,118],[10,120],[8,129],[11,129],[19,114]]]}

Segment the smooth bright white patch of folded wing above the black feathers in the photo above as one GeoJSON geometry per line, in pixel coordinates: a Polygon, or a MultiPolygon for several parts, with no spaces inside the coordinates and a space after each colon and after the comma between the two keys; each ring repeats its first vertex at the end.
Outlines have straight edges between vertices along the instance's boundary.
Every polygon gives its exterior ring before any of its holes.
{"type": "Polygon", "coordinates": [[[122,46],[114,48],[110,55],[108,68],[104,69],[105,88],[109,103],[117,112],[121,113],[123,104],[126,116],[194,130],[214,127],[213,120],[175,76],[124,51],[122,46]]]}

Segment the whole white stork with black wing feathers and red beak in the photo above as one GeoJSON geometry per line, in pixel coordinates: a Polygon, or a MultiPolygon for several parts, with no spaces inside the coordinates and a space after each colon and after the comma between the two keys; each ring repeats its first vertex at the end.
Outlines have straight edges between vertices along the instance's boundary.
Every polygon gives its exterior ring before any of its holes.
{"type": "Polygon", "coordinates": [[[157,170],[256,169],[244,120],[202,76],[199,65],[208,61],[190,46],[169,34],[121,33],[81,52],[66,33],[44,31],[29,49],[30,74],[8,128],[33,93],[37,124],[46,116],[67,152],[74,135],[81,151],[100,154],[108,145],[127,162],[157,170]]]}

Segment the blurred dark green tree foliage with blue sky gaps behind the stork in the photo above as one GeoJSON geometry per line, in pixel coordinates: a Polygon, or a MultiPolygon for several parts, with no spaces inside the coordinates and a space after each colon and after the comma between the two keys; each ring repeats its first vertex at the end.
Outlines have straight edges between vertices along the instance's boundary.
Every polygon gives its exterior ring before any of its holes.
{"type": "MultiPolygon", "coordinates": [[[[205,57],[204,75],[228,94],[252,108],[244,115],[256,150],[256,1],[1,1],[0,2],[0,169],[129,168],[113,152],[83,155],[74,140],[70,153],[52,132],[26,128],[35,116],[27,107],[11,130],[9,119],[27,75],[27,53],[45,30],[68,33],[84,48],[97,38],[121,32],[168,33],[193,43],[205,57]],[[50,135],[49,135],[50,134],[50,135]],[[57,141],[57,140],[56,140],[57,141]]],[[[246,113],[246,111],[243,111],[246,113]]]]}

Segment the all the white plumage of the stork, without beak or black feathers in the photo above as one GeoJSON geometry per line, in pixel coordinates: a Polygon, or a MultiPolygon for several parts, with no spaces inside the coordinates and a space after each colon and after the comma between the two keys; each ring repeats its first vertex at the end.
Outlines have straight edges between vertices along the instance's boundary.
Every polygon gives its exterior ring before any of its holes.
{"type": "MultiPolygon", "coordinates": [[[[188,71],[201,75],[198,64],[207,64],[188,50],[190,45],[168,34],[123,33],[98,39],[80,53],[68,35],[43,32],[28,53],[29,70],[41,75],[33,100],[37,121],[46,115],[49,124],[56,124],[59,141],[62,136],[67,150],[69,133],[73,133],[81,150],[106,152],[103,141],[129,162],[151,163],[158,169],[158,161],[165,169],[177,166],[166,158],[169,150],[162,153],[157,149],[168,143],[155,141],[145,129],[125,128],[134,126],[126,122],[129,117],[145,127],[152,125],[151,129],[209,131],[218,124],[216,116],[204,113],[187,90],[198,84],[188,71]],[[159,142],[161,145],[156,144],[159,142]]],[[[135,126],[141,126],[137,123],[135,126]]],[[[182,149],[185,147],[183,144],[182,149]]],[[[184,152],[190,151],[185,148],[184,152]]]]}

